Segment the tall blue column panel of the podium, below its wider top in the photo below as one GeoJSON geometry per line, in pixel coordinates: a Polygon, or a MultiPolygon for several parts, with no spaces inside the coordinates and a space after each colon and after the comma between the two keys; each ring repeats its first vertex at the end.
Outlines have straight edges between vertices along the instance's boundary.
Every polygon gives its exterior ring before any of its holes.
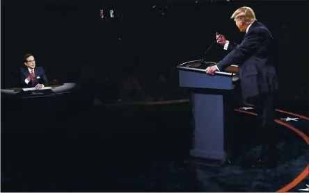
{"type": "Polygon", "coordinates": [[[192,94],[194,119],[191,156],[225,160],[223,96],[192,94]]]}

